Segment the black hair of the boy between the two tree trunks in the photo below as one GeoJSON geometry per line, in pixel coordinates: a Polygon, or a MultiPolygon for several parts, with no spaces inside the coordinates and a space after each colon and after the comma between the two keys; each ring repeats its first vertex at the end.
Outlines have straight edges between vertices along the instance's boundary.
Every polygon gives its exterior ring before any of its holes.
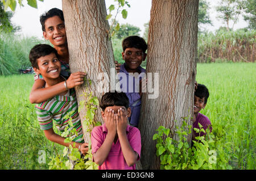
{"type": "Polygon", "coordinates": [[[123,52],[125,52],[126,48],[137,48],[141,49],[143,53],[145,53],[147,50],[147,43],[142,37],[134,35],[128,36],[125,39],[123,39],[122,47],[123,52]]]}

